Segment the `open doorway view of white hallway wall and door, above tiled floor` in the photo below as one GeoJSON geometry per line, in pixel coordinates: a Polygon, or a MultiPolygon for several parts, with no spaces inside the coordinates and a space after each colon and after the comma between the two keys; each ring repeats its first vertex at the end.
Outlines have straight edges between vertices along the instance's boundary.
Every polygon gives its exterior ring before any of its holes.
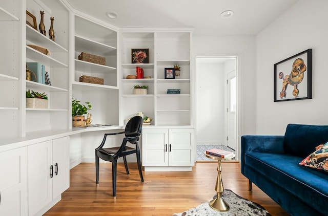
{"type": "Polygon", "coordinates": [[[197,145],[238,149],[236,72],[237,57],[196,57],[197,145]]]}

